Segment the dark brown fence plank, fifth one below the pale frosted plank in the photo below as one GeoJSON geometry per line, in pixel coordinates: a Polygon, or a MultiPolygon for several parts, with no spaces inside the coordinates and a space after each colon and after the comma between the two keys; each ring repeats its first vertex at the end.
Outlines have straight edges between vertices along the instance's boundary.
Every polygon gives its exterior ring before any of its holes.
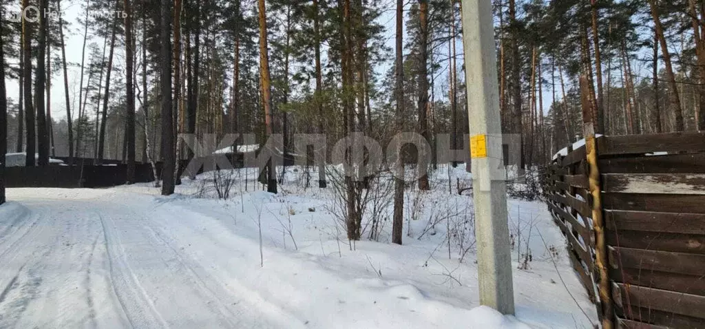
{"type": "Polygon", "coordinates": [[[638,268],[609,268],[609,274],[612,280],[620,283],[705,296],[705,278],[701,276],[639,270],[638,268]]]}

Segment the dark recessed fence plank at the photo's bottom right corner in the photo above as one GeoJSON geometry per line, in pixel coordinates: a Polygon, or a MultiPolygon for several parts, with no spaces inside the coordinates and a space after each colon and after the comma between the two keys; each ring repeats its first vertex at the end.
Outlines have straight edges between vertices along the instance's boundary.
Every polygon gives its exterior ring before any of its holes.
{"type": "MultiPolygon", "coordinates": [[[[631,306],[628,309],[615,307],[615,314],[620,318],[629,318],[637,323],[650,323],[651,325],[661,325],[666,328],[678,329],[702,329],[705,328],[705,320],[693,318],[692,316],[682,316],[666,311],[646,309],[638,306],[631,306]]],[[[641,329],[642,327],[637,327],[641,329]]]]}

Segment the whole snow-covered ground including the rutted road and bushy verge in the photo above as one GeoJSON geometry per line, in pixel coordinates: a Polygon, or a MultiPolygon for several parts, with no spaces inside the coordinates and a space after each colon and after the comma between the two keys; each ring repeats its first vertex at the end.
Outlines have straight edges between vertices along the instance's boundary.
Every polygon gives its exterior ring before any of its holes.
{"type": "Polygon", "coordinates": [[[378,237],[367,225],[349,244],[334,189],[315,173],[305,188],[301,168],[276,195],[235,170],[225,201],[209,173],[171,197],[149,184],[10,189],[0,328],[591,328],[595,307],[540,201],[508,205],[516,317],[479,306],[462,169],[442,166],[433,191],[407,193],[403,246],[389,243],[391,195],[374,198],[378,237]]]}

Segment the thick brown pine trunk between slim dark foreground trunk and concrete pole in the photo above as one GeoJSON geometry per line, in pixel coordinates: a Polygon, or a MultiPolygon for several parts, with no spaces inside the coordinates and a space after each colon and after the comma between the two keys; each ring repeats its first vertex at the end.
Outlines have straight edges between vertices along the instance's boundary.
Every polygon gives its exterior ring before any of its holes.
{"type": "MultiPolygon", "coordinates": [[[[429,1],[419,0],[419,134],[429,142],[427,111],[429,106],[429,1]]],[[[419,156],[422,154],[419,151],[419,156]]],[[[420,161],[423,162],[423,161],[420,161]]],[[[419,190],[431,190],[427,163],[419,166],[419,190]]]]}

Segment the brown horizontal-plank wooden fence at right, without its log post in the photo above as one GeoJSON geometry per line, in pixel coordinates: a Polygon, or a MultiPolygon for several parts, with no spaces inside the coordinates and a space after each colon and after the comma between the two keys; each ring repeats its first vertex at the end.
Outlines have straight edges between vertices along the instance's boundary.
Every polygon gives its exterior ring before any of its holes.
{"type": "MultiPolygon", "coordinates": [[[[705,133],[599,137],[616,328],[705,328],[705,133]]],[[[544,197],[599,305],[585,147],[547,167],[544,197]]],[[[601,307],[597,307],[601,313],[601,307]]]]}

